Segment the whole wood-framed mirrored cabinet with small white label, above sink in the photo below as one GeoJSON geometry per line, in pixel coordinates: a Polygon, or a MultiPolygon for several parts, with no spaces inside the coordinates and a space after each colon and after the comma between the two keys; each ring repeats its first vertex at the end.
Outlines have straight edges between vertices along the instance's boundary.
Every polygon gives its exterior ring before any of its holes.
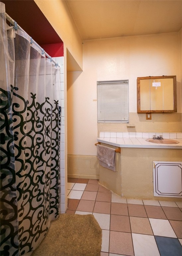
{"type": "Polygon", "coordinates": [[[176,76],[137,77],[137,113],[177,112],[176,76]]]}

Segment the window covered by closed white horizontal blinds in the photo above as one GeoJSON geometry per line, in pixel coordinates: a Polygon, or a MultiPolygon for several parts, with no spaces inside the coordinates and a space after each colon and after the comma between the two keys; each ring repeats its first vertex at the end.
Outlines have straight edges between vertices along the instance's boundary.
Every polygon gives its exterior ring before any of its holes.
{"type": "Polygon", "coordinates": [[[98,123],[129,123],[128,80],[97,82],[98,123]]]}

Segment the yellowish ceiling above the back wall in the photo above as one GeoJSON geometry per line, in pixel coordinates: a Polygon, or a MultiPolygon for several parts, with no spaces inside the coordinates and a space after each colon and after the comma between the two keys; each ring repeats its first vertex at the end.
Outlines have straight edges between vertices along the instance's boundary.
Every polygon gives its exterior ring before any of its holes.
{"type": "Polygon", "coordinates": [[[178,32],[182,0],[66,0],[83,40],[178,32]]]}

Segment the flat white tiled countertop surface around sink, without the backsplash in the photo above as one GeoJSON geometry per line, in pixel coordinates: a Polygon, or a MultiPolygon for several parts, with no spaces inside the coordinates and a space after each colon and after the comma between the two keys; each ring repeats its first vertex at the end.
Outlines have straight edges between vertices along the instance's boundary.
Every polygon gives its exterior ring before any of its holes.
{"type": "MultiPolygon", "coordinates": [[[[146,141],[149,138],[117,138],[117,137],[99,137],[98,142],[120,148],[166,148],[182,149],[182,139],[173,139],[179,141],[178,144],[157,144],[146,141]]],[[[164,138],[165,139],[165,138],[164,138]]]]}

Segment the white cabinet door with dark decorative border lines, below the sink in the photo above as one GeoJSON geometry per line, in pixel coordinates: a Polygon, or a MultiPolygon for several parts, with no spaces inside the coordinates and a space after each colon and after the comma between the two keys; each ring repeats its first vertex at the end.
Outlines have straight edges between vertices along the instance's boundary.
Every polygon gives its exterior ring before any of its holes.
{"type": "Polygon", "coordinates": [[[153,161],[154,196],[182,198],[182,162],[153,161]]]}

